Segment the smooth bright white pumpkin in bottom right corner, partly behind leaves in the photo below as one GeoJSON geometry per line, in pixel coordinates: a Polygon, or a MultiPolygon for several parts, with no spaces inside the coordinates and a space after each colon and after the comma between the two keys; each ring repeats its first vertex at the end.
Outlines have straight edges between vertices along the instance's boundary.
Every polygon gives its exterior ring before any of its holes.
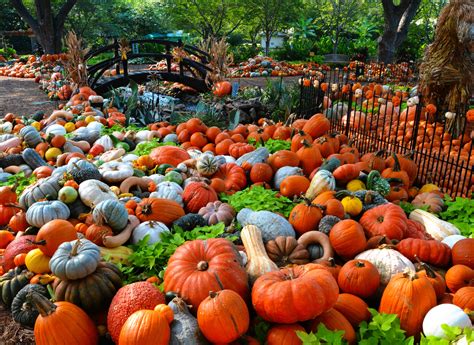
{"type": "Polygon", "coordinates": [[[446,333],[441,325],[456,326],[460,328],[472,327],[469,316],[454,304],[440,304],[430,309],[423,319],[423,333],[425,336],[446,338],[446,333]]]}

